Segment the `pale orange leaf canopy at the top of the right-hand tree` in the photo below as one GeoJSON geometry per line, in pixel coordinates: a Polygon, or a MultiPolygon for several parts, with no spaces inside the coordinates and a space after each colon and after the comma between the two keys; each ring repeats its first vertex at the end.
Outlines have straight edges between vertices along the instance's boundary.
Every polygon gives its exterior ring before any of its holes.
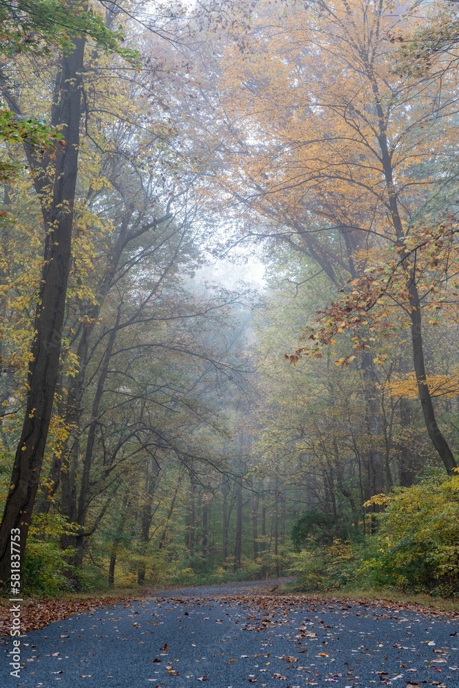
{"type": "MultiPolygon", "coordinates": [[[[414,30],[418,20],[411,10],[394,17],[389,5],[257,6],[244,49],[228,47],[223,60],[220,98],[231,131],[222,188],[288,226],[346,222],[370,239],[394,239],[381,131],[408,212],[433,182],[426,163],[454,134],[445,120],[439,144],[429,104],[437,86],[394,72],[397,45],[389,36],[414,30]]],[[[455,102],[444,98],[441,116],[455,102]]]]}

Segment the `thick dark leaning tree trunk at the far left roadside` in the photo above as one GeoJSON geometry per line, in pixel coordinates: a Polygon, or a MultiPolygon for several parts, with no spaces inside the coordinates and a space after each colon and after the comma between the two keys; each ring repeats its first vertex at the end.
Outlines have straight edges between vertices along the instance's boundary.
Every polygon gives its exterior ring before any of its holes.
{"type": "MultiPolygon", "coordinates": [[[[56,153],[52,202],[48,204],[47,194],[43,201],[46,240],[28,370],[25,417],[0,526],[0,579],[3,581],[8,578],[10,570],[12,528],[21,530],[20,552],[23,558],[58,378],[78,172],[85,36],[73,39],[73,43],[74,50],[62,58],[59,99],[52,112],[52,124],[63,131],[65,147],[56,153]]],[[[50,160],[47,162],[49,164],[50,160]]],[[[34,167],[32,174],[37,175],[34,167]]],[[[45,193],[49,182],[42,167],[35,185],[45,193]]]]}

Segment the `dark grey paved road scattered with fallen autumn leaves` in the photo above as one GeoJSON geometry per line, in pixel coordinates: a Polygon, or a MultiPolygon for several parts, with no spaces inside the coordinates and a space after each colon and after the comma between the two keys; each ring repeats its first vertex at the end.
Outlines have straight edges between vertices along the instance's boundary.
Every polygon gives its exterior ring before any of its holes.
{"type": "Polygon", "coordinates": [[[453,619],[274,596],[266,583],[164,592],[22,640],[20,680],[2,645],[1,688],[459,688],[453,619]]]}

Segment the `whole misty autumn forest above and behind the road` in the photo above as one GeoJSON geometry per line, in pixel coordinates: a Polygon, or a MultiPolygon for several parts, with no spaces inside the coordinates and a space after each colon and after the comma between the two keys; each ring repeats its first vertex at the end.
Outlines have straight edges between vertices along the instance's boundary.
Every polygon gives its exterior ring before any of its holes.
{"type": "Polygon", "coordinates": [[[445,0],[1,4],[28,592],[457,592],[458,32],[445,0]]]}

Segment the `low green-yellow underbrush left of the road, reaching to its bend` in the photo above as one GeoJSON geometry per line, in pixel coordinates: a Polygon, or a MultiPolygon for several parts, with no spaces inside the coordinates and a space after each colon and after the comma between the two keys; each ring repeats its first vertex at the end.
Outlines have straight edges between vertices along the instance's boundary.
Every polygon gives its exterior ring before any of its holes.
{"type": "MultiPolygon", "coordinates": [[[[64,536],[74,533],[60,516],[39,515],[30,528],[28,548],[23,563],[25,596],[61,597],[70,592],[78,594],[104,594],[114,590],[108,583],[109,562],[104,538],[93,539],[86,550],[83,567],[72,566],[72,548],[61,548],[64,536]]],[[[108,550],[108,551],[107,551],[108,550]]],[[[242,557],[241,566],[234,560],[224,566],[213,563],[211,557],[199,552],[193,556],[184,546],[171,543],[162,549],[153,547],[139,552],[129,541],[118,546],[114,583],[116,590],[142,588],[175,588],[193,585],[212,585],[237,581],[255,581],[288,574],[291,565],[291,548],[279,546],[277,555],[262,551],[257,559],[242,557]],[[138,571],[145,571],[143,585],[138,584],[138,571]]]]}

